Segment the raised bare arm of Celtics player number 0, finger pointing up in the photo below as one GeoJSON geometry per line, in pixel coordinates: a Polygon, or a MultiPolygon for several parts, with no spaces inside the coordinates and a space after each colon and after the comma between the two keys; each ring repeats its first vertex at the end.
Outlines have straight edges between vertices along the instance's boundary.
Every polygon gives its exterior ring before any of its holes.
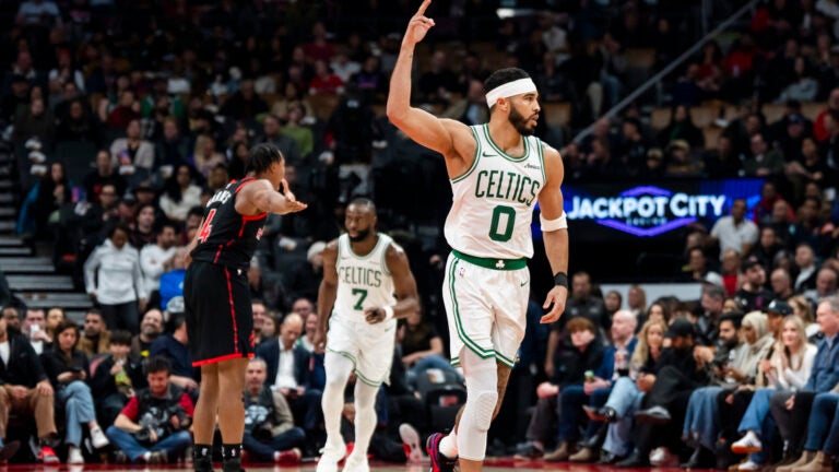
{"type": "Polygon", "coordinates": [[[397,128],[417,143],[439,152],[448,161],[456,155],[452,132],[464,132],[470,137],[468,127],[459,121],[438,119],[423,109],[411,107],[411,64],[414,60],[414,47],[434,26],[434,20],[425,16],[429,4],[432,0],[423,1],[407,24],[399,58],[390,76],[387,113],[388,119],[397,128]]]}

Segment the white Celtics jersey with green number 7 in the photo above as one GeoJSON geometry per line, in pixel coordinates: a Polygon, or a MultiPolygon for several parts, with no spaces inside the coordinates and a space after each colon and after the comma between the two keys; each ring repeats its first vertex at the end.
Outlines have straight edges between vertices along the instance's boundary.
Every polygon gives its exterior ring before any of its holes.
{"type": "MultiPolygon", "coordinates": [[[[346,234],[338,238],[338,296],[333,316],[364,322],[364,309],[394,305],[393,278],[385,257],[393,239],[382,233],[370,253],[358,256],[350,246],[346,234]]],[[[395,322],[395,320],[392,320],[395,322]]]]}

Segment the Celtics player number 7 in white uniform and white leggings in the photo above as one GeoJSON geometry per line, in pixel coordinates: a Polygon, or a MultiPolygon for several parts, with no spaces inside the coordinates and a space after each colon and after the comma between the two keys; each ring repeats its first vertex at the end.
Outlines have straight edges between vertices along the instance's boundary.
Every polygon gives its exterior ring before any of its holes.
{"type": "Polygon", "coordinates": [[[341,437],[344,388],[355,382],[355,446],[345,472],[367,472],[367,448],[376,427],[376,394],[390,375],[397,319],[420,309],[405,252],[376,231],[376,206],[356,199],[346,208],[346,234],[323,250],[318,292],[316,350],[326,347],[327,386],[321,405],[327,445],[317,472],[334,472],[346,447],[341,437]],[[331,315],[331,316],[330,316],[331,315]],[[328,331],[327,331],[328,330],[328,331]],[[326,346],[323,341],[326,339],[326,346]]]}

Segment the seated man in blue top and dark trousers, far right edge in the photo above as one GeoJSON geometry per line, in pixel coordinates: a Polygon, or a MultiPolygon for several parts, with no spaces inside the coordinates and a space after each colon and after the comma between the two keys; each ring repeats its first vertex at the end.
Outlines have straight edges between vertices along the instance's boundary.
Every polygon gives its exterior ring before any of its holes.
{"type": "MultiPolygon", "coordinates": [[[[812,459],[808,455],[803,455],[802,450],[813,400],[816,394],[830,391],[839,384],[839,297],[834,296],[820,302],[816,319],[825,338],[816,346],[816,356],[807,382],[797,391],[778,391],[769,401],[772,417],[785,442],[785,455],[788,458],[806,460],[795,467],[802,467],[812,459]]],[[[782,470],[791,471],[792,468],[782,470]]]]}

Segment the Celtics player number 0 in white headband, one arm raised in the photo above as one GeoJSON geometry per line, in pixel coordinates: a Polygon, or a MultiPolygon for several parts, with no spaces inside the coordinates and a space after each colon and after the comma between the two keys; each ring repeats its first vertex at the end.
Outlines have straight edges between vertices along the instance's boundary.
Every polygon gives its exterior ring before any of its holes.
{"type": "Polygon", "coordinates": [[[501,69],[484,82],[489,122],[468,127],[411,107],[414,47],[434,26],[425,0],[402,39],[388,95],[388,118],[417,143],[446,160],[453,203],[446,220],[452,247],[444,282],[452,363],[463,366],[466,404],[448,436],[433,434],[426,449],[433,472],[480,471],[486,432],[498,414],[516,354],[524,337],[533,255],[533,205],[541,209],[545,251],[555,286],[543,323],[554,322],[568,296],[568,232],[559,186],[559,153],[532,134],[539,94],[527,72],[501,69]]]}

